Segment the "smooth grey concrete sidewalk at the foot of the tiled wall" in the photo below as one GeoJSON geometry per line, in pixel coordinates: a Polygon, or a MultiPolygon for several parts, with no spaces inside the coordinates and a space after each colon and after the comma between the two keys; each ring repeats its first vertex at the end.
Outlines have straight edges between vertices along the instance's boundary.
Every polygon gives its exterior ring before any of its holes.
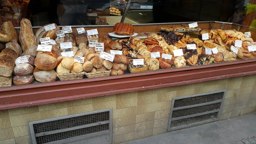
{"type": "Polygon", "coordinates": [[[256,113],[252,113],[123,144],[222,144],[255,136],[256,113]]]}

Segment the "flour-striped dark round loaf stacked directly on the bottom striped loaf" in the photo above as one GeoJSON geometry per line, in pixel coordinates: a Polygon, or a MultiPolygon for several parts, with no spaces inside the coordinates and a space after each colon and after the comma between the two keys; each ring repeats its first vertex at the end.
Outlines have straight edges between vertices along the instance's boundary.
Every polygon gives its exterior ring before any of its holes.
{"type": "Polygon", "coordinates": [[[33,73],[33,66],[28,63],[20,63],[13,68],[15,76],[28,76],[33,73]]]}

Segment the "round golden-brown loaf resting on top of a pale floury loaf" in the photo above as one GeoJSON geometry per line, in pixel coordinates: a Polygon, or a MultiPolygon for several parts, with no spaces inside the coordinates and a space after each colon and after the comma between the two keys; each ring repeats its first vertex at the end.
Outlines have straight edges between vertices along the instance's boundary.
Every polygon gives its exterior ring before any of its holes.
{"type": "Polygon", "coordinates": [[[50,53],[43,52],[35,59],[35,66],[42,70],[51,70],[56,67],[57,59],[50,53]]]}

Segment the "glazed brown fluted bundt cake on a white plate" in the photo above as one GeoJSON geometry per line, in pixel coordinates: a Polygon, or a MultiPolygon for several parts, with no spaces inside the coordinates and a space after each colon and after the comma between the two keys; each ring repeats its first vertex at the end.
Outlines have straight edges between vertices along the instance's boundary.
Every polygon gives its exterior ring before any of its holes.
{"type": "Polygon", "coordinates": [[[117,35],[133,35],[134,30],[132,24],[129,23],[116,23],[113,32],[115,32],[117,35]]]}

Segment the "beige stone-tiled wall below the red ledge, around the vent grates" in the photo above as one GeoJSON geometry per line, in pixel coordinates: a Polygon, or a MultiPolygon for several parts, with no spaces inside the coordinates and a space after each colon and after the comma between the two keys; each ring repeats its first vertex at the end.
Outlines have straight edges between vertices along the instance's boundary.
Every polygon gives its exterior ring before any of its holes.
{"type": "Polygon", "coordinates": [[[256,75],[0,110],[0,144],[30,144],[28,122],[113,108],[113,143],[167,132],[172,98],[227,89],[220,120],[256,111],[256,75]]]}

